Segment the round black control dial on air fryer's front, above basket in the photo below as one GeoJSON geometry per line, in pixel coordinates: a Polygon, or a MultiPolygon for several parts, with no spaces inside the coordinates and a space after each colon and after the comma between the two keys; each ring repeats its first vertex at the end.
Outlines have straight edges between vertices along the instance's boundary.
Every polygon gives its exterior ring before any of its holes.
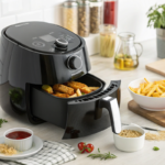
{"type": "Polygon", "coordinates": [[[77,55],[70,56],[67,59],[67,67],[69,69],[79,69],[82,65],[82,62],[80,59],[80,57],[78,57],[77,55]]]}

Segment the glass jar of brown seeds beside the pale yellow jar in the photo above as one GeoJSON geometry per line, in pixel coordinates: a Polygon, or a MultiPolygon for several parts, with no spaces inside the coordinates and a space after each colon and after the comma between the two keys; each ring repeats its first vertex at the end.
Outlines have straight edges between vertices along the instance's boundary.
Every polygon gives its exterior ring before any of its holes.
{"type": "Polygon", "coordinates": [[[78,34],[89,36],[90,33],[90,3],[88,0],[78,1],[78,34]]]}

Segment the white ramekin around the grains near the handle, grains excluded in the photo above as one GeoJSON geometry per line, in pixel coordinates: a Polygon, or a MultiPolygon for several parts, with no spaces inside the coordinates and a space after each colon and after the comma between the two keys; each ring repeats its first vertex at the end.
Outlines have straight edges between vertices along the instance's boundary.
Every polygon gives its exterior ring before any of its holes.
{"type": "Polygon", "coordinates": [[[113,133],[114,145],[118,150],[123,152],[135,152],[143,148],[145,140],[145,131],[141,127],[131,123],[130,125],[122,127],[122,130],[139,131],[142,133],[142,135],[139,138],[122,138],[113,133]]]}

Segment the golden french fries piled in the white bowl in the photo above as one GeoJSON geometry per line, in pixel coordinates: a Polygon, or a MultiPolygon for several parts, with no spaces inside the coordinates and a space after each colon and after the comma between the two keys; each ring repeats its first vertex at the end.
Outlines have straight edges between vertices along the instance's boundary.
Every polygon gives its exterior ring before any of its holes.
{"type": "Polygon", "coordinates": [[[165,80],[157,80],[152,82],[144,78],[144,81],[145,82],[140,84],[139,88],[129,87],[130,90],[138,95],[147,97],[165,97],[165,80]]]}

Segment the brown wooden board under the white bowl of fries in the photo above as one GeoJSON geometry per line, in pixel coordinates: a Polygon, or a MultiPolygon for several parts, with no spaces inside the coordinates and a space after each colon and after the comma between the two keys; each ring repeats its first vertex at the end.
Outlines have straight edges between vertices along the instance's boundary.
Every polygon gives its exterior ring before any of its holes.
{"type": "Polygon", "coordinates": [[[155,111],[144,110],[134,100],[131,100],[128,103],[128,108],[130,111],[165,128],[165,111],[155,112],[155,111]]]}

